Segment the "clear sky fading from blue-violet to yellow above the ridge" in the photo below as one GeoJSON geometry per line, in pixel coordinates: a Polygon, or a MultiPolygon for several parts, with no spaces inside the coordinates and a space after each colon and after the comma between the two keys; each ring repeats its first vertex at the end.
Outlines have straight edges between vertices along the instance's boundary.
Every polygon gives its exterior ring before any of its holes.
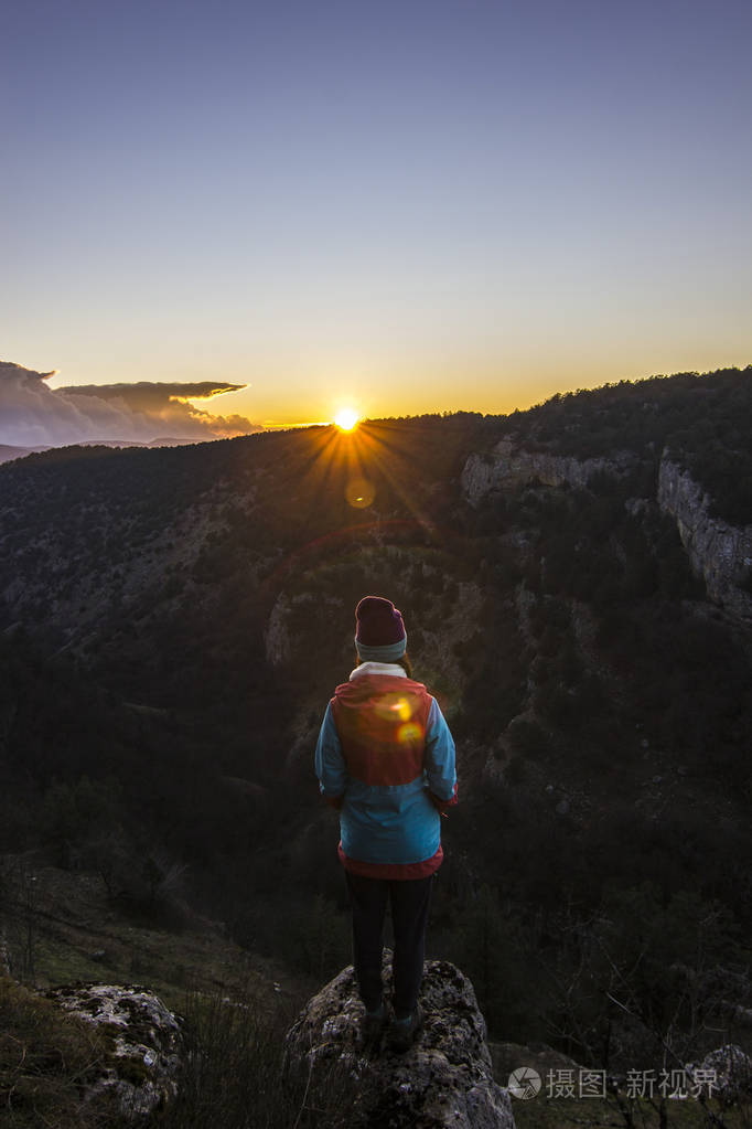
{"type": "Polygon", "coordinates": [[[256,422],[752,361],[752,3],[5,0],[0,358],[256,422]]]}

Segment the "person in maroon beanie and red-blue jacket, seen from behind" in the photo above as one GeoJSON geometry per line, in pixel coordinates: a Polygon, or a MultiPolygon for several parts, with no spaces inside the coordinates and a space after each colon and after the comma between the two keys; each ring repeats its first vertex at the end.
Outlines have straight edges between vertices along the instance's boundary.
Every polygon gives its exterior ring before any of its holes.
{"type": "Polygon", "coordinates": [[[390,1044],[407,1050],[423,1022],[418,990],[441,815],[457,803],[454,742],[435,698],[413,680],[402,616],[390,599],[355,609],[357,665],[327,706],[316,747],[321,795],[339,811],[339,859],[353,910],[363,1039],[386,1024],[381,959],[387,901],[395,933],[390,1044]]]}

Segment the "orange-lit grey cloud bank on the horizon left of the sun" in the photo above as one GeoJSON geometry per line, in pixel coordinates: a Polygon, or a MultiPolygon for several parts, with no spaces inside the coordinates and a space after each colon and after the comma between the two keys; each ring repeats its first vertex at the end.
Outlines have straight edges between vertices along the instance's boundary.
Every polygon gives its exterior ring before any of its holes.
{"type": "Polygon", "coordinates": [[[45,382],[53,375],[0,361],[0,444],[59,447],[97,439],[198,441],[262,430],[245,415],[216,415],[188,402],[237,392],[242,384],[142,380],[51,388],[45,382]]]}

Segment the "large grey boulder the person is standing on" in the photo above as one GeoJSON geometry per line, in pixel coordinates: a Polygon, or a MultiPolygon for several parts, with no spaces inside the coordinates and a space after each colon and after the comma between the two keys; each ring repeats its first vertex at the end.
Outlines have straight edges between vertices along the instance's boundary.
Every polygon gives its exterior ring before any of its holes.
{"type": "MultiPolygon", "coordinates": [[[[383,970],[387,998],[390,955],[383,970]]],[[[449,961],[426,961],[419,1001],[425,1023],[409,1051],[396,1054],[384,1039],[365,1053],[363,1005],[350,965],[308,1001],[287,1032],[290,1067],[346,1064],[356,1094],[352,1129],[514,1129],[510,1095],[493,1078],[486,1024],[470,981],[449,961]]]]}

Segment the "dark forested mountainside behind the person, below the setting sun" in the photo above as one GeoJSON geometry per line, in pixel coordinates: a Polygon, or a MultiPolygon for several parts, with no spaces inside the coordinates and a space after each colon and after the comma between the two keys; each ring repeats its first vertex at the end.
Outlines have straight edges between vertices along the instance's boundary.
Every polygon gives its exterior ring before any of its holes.
{"type": "Polygon", "coordinates": [[[180,870],[303,960],[343,904],[312,749],[384,594],[458,744],[435,951],[504,1038],[593,1061],[613,968],[660,1026],[752,924],[751,429],[747,368],[5,465],[0,851],[141,904],[180,870]]]}

